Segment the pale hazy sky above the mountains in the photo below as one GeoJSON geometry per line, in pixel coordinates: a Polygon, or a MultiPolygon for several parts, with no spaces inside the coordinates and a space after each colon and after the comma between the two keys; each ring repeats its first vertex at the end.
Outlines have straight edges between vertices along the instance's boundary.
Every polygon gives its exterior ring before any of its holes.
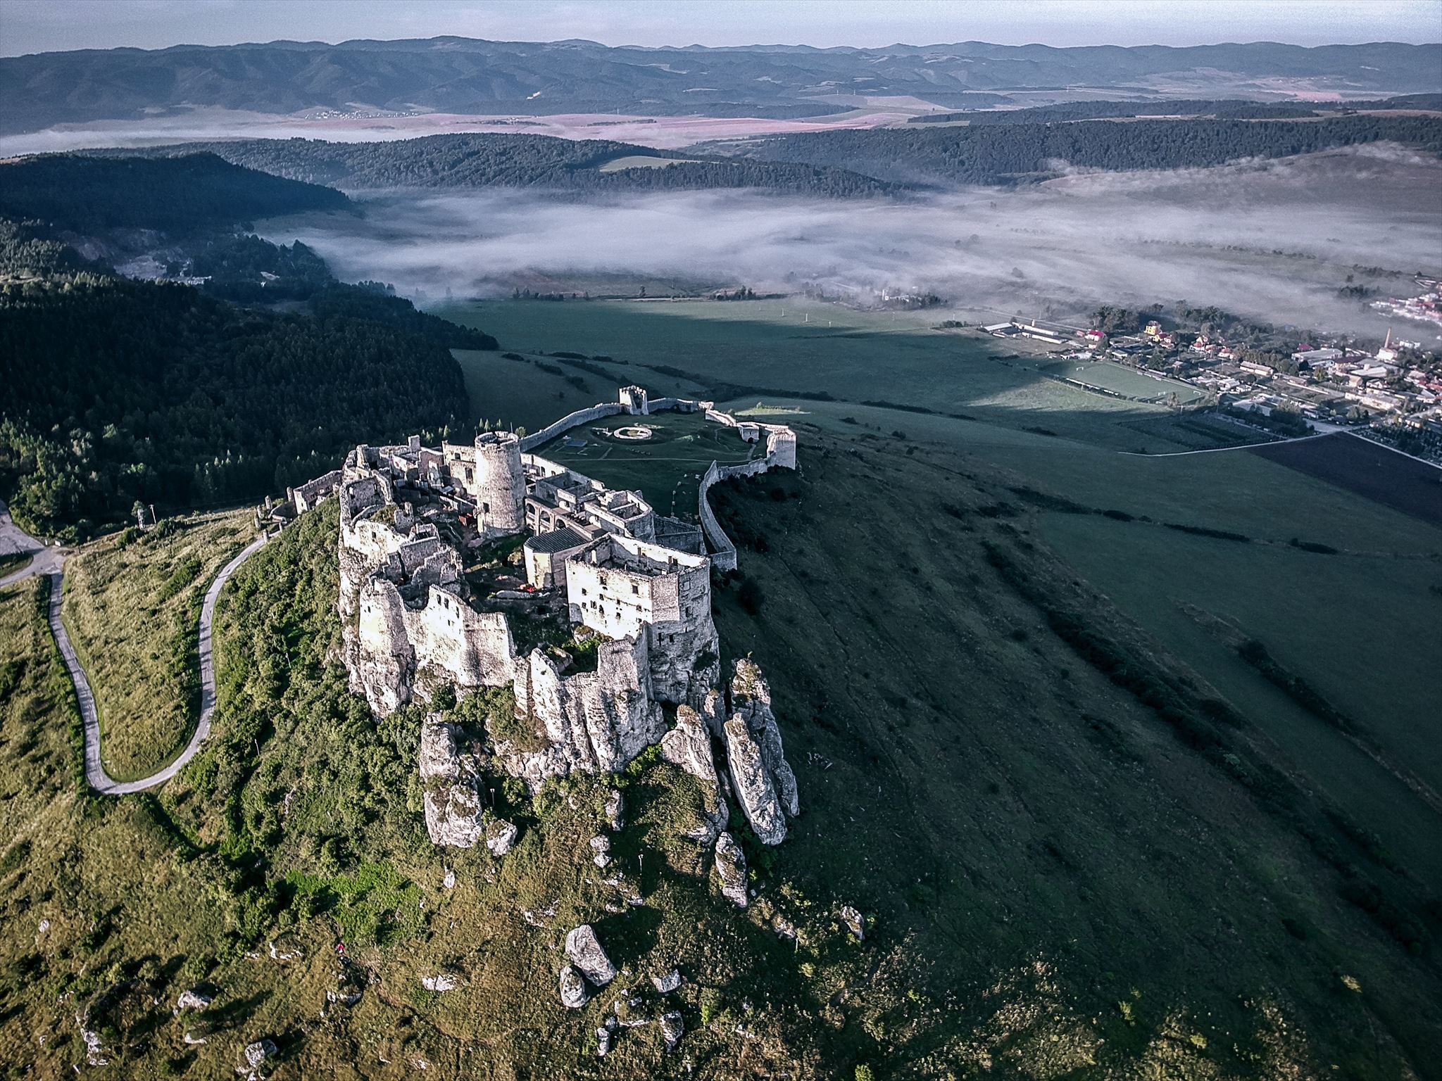
{"type": "Polygon", "coordinates": [[[0,55],[457,35],[603,45],[1439,42],[1442,0],[0,0],[0,55]]]}

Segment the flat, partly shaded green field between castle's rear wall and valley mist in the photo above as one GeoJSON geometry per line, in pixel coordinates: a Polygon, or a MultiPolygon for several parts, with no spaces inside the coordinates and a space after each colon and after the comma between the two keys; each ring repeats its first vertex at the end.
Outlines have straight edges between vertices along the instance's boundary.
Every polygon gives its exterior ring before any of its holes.
{"type": "Polygon", "coordinates": [[[640,382],[653,395],[702,393],[725,404],[787,392],[846,404],[881,401],[1118,450],[1138,442],[1120,422],[1165,412],[1048,379],[1038,365],[1054,362],[1028,344],[933,330],[930,323],[940,319],[934,313],[852,311],[795,298],[496,300],[433,310],[485,327],[502,349],[611,356],[626,362],[609,365],[619,383],[640,382]]]}

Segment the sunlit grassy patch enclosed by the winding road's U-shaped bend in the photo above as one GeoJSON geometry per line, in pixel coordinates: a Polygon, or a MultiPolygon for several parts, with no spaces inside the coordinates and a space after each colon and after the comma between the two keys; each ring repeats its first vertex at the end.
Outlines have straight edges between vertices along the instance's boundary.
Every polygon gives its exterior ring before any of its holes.
{"type": "Polygon", "coordinates": [[[65,626],[95,693],[101,751],[117,780],[154,773],[185,747],[199,711],[200,600],[251,536],[252,512],[179,520],[121,546],[112,535],[65,565],[65,626]]]}

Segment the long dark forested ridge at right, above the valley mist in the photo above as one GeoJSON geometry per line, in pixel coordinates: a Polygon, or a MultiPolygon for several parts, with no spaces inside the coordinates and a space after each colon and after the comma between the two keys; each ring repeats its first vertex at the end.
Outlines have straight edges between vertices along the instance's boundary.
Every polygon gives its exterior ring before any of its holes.
{"type": "Polygon", "coordinates": [[[761,141],[754,153],[767,160],[845,164],[883,179],[998,184],[1053,174],[1054,161],[1110,170],[1187,169],[1383,140],[1442,151],[1442,120],[1355,115],[872,128],[779,135],[761,141]]]}

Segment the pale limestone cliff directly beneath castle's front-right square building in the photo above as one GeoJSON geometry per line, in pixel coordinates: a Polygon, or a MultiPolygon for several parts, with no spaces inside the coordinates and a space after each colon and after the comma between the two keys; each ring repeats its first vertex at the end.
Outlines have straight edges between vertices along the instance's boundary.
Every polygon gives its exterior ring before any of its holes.
{"type": "Polygon", "coordinates": [[[536,751],[497,744],[496,760],[512,777],[539,788],[571,771],[617,773],[666,731],[650,696],[646,639],[603,641],[596,672],[561,675],[536,649],[516,662],[516,716],[545,737],[536,751]]]}

